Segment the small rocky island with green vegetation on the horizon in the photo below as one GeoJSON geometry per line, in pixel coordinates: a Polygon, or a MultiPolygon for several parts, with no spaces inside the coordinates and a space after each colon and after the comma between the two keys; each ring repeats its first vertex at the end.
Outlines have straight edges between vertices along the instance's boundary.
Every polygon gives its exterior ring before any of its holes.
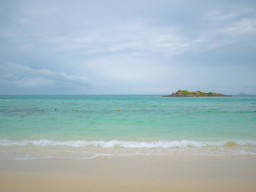
{"type": "Polygon", "coordinates": [[[179,90],[172,95],[164,95],[162,97],[232,97],[232,95],[223,95],[222,93],[205,93],[205,92],[189,92],[188,90],[179,90]]]}

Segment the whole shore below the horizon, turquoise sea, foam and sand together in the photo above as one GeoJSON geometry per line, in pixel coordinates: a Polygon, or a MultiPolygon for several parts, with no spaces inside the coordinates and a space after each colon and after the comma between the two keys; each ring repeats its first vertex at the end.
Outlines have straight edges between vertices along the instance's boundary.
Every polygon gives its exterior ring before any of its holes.
{"type": "Polygon", "coordinates": [[[255,191],[255,108],[239,95],[1,95],[0,191],[255,191]]]}

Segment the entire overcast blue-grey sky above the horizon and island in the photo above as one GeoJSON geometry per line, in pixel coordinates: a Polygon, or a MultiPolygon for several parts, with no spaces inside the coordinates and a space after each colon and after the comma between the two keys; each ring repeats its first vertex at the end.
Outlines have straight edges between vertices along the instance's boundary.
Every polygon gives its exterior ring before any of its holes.
{"type": "Polygon", "coordinates": [[[0,1],[0,94],[256,94],[256,1],[0,1]]]}

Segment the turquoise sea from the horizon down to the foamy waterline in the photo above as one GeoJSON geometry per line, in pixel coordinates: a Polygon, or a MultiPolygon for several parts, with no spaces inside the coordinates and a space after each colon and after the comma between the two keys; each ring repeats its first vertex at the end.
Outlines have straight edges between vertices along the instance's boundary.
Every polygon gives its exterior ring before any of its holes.
{"type": "Polygon", "coordinates": [[[256,96],[0,95],[0,159],[166,154],[256,154],[256,96]]]}

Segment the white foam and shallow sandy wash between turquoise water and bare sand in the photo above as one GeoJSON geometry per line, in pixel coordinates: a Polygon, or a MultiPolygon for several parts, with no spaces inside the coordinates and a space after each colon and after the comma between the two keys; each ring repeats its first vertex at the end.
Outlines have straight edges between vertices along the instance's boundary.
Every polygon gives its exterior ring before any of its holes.
{"type": "Polygon", "coordinates": [[[140,156],[195,154],[230,156],[256,154],[256,141],[58,141],[0,140],[0,159],[72,158],[90,159],[97,156],[140,156]]]}

